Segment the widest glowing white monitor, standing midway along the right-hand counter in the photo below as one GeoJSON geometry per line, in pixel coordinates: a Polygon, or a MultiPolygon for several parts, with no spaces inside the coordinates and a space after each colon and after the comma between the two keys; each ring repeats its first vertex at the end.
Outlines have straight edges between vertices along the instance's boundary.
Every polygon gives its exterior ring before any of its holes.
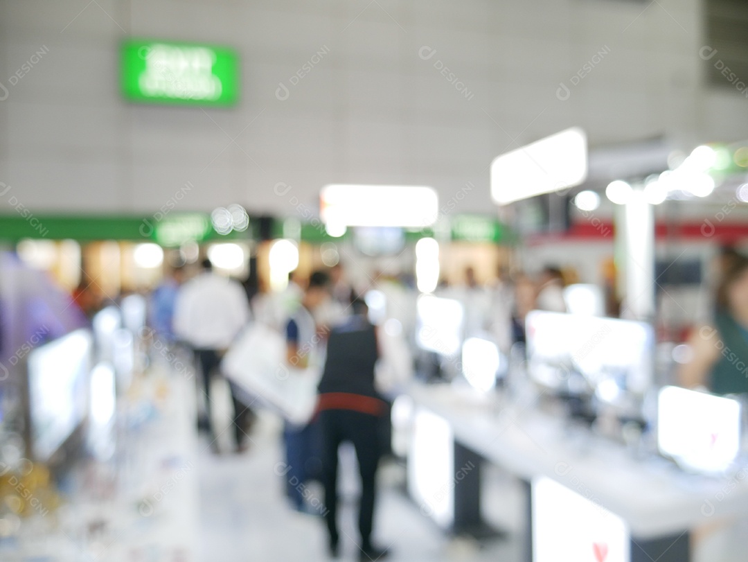
{"type": "Polygon", "coordinates": [[[654,330],[649,324],[579,314],[527,314],[527,369],[548,388],[579,373],[592,388],[643,394],[652,385],[654,330]]]}

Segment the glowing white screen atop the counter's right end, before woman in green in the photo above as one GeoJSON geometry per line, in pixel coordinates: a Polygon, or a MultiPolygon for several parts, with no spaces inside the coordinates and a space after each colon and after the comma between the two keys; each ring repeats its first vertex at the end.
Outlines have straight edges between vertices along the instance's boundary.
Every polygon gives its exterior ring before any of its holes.
{"type": "Polygon", "coordinates": [[[726,470],[741,446],[741,405],[686,388],[666,386],[657,400],[657,448],[684,468],[726,470]]]}

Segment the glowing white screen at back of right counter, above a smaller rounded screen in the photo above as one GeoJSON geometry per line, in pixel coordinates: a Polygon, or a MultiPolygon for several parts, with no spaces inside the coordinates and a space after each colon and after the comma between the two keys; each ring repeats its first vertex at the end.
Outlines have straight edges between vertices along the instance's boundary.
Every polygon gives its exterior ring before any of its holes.
{"type": "Polygon", "coordinates": [[[417,301],[417,314],[418,346],[440,355],[459,352],[465,311],[458,301],[421,295],[417,301]]]}

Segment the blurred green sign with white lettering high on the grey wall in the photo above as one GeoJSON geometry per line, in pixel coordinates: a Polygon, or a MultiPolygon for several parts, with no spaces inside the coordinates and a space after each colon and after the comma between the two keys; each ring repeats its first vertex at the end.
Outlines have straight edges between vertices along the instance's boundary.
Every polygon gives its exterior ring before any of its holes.
{"type": "Polygon", "coordinates": [[[126,41],[121,51],[126,100],[233,106],[239,100],[239,55],[222,46],[126,41]]]}

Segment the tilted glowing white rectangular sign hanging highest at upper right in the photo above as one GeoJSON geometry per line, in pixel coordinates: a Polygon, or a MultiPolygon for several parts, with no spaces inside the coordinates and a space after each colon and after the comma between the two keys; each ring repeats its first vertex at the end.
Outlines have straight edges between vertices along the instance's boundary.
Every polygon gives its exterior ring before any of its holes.
{"type": "Polygon", "coordinates": [[[583,183],[587,177],[587,137],[571,127],[491,162],[491,197],[506,205],[583,183]]]}

